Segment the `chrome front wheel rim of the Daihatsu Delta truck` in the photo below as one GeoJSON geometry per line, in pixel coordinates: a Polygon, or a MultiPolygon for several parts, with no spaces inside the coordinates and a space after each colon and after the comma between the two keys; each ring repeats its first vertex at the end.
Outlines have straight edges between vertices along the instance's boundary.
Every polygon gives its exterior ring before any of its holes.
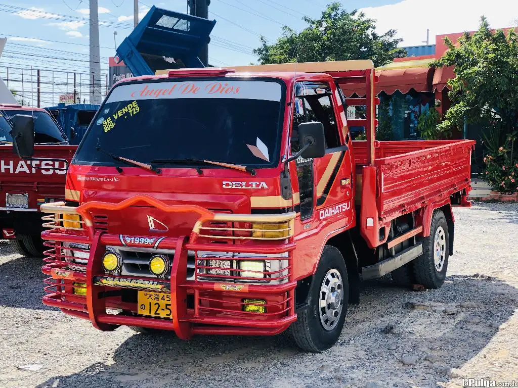
{"type": "Polygon", "coordinates": [[[343,281],[342,276],[335,268],[327,271],[320,286],[320,323],[325,330],[333,330],[343,307],[343,281]]]}

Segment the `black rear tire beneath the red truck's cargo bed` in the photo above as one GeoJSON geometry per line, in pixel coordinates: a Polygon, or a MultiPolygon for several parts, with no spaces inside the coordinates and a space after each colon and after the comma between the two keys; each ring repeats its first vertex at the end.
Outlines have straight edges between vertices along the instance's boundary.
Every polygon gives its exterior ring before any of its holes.
{"type": "Polygon", "coordinates": [[[441,288],[446,278],[449,256],[450,237],[448,235],[448,222],[444,213],[436,210],[433,217],[431,217],[430,235],[423,238],[423,255],[413,261],[415,282],[426,288],[441,288]],[[438,232],[439,229],[442,229],[442,234],[438,232]],[[437,253],[435,238],[437,233],[439,233],[439,245],[444,246],[444,258],[440,270],[436,267],[435,262],[437,253]]]}

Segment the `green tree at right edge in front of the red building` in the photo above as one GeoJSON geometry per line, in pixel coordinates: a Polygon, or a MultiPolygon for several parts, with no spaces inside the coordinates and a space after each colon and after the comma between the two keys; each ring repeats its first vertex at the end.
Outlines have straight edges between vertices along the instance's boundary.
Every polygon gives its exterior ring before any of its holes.
{"type": "Polygon", "coordinates": [[[482,17],[480,28],[465,33],[454,44],[445,38],[448,50],[430,66],[454,66],[452,107],[439,129],[490,123],[501,132],[501,141],[518,125],[518,37],[513,30],[492,32],[482,17]]]}

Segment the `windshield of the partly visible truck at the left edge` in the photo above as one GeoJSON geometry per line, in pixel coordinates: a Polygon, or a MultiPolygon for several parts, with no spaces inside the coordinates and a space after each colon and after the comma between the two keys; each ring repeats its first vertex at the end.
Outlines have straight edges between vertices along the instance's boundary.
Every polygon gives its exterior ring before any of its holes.
{"type": "MultiPolygon", "coordinates": [[[[52,117],[47,112],[27,111],[27,110],[3,110],[9,118],[15,114],[28,114],[34,117],[34,142],[35,143],[62,143],[67,139],[52,120],[52,117]]],[[[5,117],[0,113],[0,141],[12,142],[12,137],[9,135],[11,127],[5,120],[5,117]]]]}

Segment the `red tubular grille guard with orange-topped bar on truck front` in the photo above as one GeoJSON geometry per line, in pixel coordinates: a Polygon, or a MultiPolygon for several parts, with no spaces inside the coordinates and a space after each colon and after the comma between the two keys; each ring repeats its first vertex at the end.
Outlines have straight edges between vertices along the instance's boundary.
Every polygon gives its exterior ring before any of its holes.
{"type": "MultiPolygon", "coordinates": [[[[287,329],[297,319],[294,306],[296,281],[293,276],[293,250],[295,249],[293,219],[295,213],[281,215],[219,214],[195,205],[166,205],[146,195],[138,195],[117,204],[88,202],[77,208],[65,206],[64,203],[45,204],[42,205],[42,211],[56,214],[55,218],[45,217],[46,220],[51,220],[46,226],[52,229],[42,233],[42,238],[46,240],[45,245],[50,248],[45,252],[47,264],[42,267],[42,272],[51,276],[45,279],[47,285],[45,291],[48,294],[43,297],[43,303],[60,308],[68,315],[88,319],[99,330],[112,331],[119,325],[140,326],[150,329],[174,330],[176,335],[182,339],[189,339],[194,334],[275,335],[287,329]],[[171,294],[172,320],[128,315],[127,312],[117,315],[108,314],[107,308],[135,311],[135,304],[104,297],[105,292],[113,290],[113,287],[99,286],[94,283],[94,279],[98,276],[118,277],[107,275],[102,268],[101,260],[106,246],[122,246],[122,244],[121,236],[94,230],[90,211],[93,209],[117,211],[137,202],[146,202],[168,213],[190,212],[197,213],[200,216],[189,238],[188,236],[163,237],[160,242],[160,249],[175,250],[171,263],[170,280],[166,280],[171,294]],[[60,214],[79,214],[83,220],[81,223],[84,223],[85,228],[67,228],[60,214]],[[257,281],[257,278],[241,276],[241,272],[232,276],[234,282],[217,281],[217,279],[214,281],[200,280],[199,272],[208,271],[207,268],[211,267],[203,265],[206,260],[199,260],[197,252],[221,252],[222,250],[221,244],[199,242],[199,240],[203,241],[204,237],[208,237],[204,233],[210,233],[212,228],[206,228],[204,225],[211,220],[277,222],[283,223],[283,225],[287,222],[289,227],[285,229],[287,230],[287,237],[285,238],[247,237],[247,242],[248,240],[251,240],[251,242],[253,240],[263,241],[257,241],[256,244],[224,245],[225,252],[237,252],[241,255],[243,253],[251,253],[252,255],[284,254],[282,257],[272,258],[280,259],[286,263],[281,270],[252,271],[267,274],[265,277],[270,279],[279,279],[279,283],[275,285],[253,284],[250,281],[257,281]],[[71,263],[70,260],[74,258],[74,256],[71,256],[73,255],[72,251],[87,252],[87,250],[64,247],[64,242],[89,244],[90,252],[87,263],[71,263]],[[195,280],[187,280],[188,250],[196,252],[195,280]],[[67,255],[67,252],[70,252],[70,255],[67,255]],[[243,280],[248,282],[243,282],[243,280]],[[75,289],[81,289],[81,284],[86,285],[84,296],[74,292],[75,289]],[[194,296],[194,308],[188,309],[188,294],[194,296]],[[242,298],[266,300],[266,313],[243,311],[242,298]]],[[[237,238],[244,238],[236,237],[236,233],[242,234],[252,231],[252,229],[247,228],[232,227],[227,229],[231,230],[232,236],[225,238],[234,241],[237,238]]],[[[250,235],[252,234],[250,233],[250,235]]],[[[218,257],[218,260],[237,261],[240,259],[265,260],[264,257],[254,258],[253,256],[242,258],[218,257]]],[[[119,277],[150,280],[149,277],[119,277]]],[[[153,278],[151,280],[160,279],[153,278]]],[[[123,288],[117,287],[116,289],[123,288]]]]}

